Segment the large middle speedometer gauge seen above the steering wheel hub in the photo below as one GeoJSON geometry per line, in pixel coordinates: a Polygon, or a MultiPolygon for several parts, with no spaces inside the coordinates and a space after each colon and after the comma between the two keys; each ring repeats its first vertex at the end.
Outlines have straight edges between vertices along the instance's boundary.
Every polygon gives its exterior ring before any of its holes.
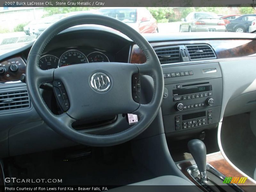
{"type": "Polygon", "coordinates": [[[60,56],[59,67],[88,63],[86,56],[77,50],[68,50],[60,56]]]}

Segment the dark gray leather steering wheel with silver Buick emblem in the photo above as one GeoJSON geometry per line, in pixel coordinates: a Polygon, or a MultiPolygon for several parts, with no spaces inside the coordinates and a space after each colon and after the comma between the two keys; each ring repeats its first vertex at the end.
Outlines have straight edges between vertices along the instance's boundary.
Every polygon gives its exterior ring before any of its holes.
{"type": "Polygon", "coordinates": [[[122,21],[96,14],[70,16],[47,28],[37,38],[29,52],[26,83],[31,102],[44,122],[60,135],[89,146],[117,145],[138,136],[156,117],[164,92],[163,71],[148,41],[122,21]],[[98,62],[40,69],[39,58],[50,40],[67,28],[83,24],[102,25],[122,32],[140,47],[147,61],[143,64],[98,62]],[[154,93],[148,104],[139,104],[133,100],[134,74],[149,75],[154,80],[154,93]],[[54,115],[50,111],[39,91],[41,84],[56,80],[62,82],[69,101],[68,110],[60,115],[54,115]],[[115,134],[92,135],[72,128],[72,123],[76,120],[127,113],[138,115],[139,122],[115,134]]]}

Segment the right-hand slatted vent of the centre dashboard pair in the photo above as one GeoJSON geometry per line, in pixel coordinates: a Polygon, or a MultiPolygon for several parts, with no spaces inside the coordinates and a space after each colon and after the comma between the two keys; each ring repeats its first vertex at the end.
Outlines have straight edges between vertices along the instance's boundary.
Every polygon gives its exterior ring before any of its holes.
{"type": "Polygon", "coordinates": [[[216,55],[209,45],[186,45],[186,48],[190,60],[216,59],[216,55]]]}

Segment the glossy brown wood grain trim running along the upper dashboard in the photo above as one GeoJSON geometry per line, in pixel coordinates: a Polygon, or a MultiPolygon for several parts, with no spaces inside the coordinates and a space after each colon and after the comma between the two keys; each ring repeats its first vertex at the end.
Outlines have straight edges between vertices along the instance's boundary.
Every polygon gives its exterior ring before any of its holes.
{"type": "MultiPolygon", "coordinates": [[[[217,59],[256,55],[256,40],[250,39],[169,41],[150,44],[153,48],[177,44],[209,44],[214,49],[217,59]]],[[[144,63],[145,61],[144,53],[137,45],[133,45],[131,63],[144,63]]]]}

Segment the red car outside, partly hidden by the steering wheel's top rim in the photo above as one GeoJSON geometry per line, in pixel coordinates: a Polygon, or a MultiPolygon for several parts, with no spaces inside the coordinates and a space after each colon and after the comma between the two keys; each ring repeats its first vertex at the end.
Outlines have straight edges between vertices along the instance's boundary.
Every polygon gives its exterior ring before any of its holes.
{"type": "Polygon", "coordinates": [[[156,19],[145,7],[101,8],[96,13],[121,20],[139,33],[158,32],[156,19]]]}

